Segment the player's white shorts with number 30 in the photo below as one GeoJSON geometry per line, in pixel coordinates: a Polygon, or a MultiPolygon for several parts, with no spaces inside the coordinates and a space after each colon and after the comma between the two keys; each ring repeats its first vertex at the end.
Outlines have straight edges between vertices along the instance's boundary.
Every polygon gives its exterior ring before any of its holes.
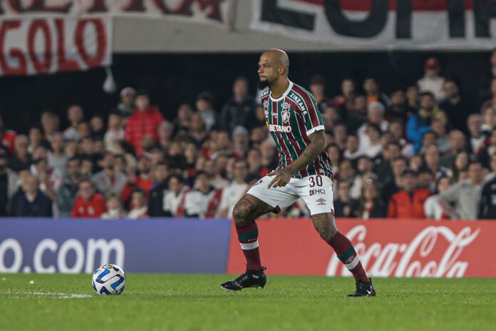
{"type": "Polygon", "coordinates": [[[271,207],[276,213],[292,205],[298,198],[302,198],[310,215],[321,213],[334,214],[332,180],[324,175],[310,175],[305,178],[291,178],[286,186],[281,188],[267,188],[274,176],[265,176],[254,183],[248,194],[259,198],[271,207]]]}

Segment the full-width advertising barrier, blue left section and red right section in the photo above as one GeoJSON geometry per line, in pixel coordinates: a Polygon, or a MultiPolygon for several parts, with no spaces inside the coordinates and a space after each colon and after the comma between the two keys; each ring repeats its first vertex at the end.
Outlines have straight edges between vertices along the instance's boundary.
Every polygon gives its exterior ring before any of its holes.
{"type": "MultiPolygon", "coordinates": [[[[309,219],[259,220],[269,274],[348,276],[309,219]]],[[[337,220],[374,277],[496,277],[496,222],[337,220]]],[[[241,273],[229,220],[0,219],[0,273],[241,273]]]]}

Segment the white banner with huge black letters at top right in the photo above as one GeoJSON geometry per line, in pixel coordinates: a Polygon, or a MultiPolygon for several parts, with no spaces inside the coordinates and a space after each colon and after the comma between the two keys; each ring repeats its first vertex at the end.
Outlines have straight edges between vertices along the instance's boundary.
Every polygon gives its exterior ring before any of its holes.
{"type": "Polygon", "coordinates": [[[251,29],[335,49],[492,49],[496,1],[254,0],[251,29]]]}

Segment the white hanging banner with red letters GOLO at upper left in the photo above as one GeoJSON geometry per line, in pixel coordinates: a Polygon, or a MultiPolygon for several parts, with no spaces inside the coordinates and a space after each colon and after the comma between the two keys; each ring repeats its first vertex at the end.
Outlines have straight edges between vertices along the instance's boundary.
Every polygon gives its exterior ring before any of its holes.
{"type": "Polygon", "coordinates": [[[110,66],[111,41],[111,19],[1,20],[0,76],[110,66]]]}

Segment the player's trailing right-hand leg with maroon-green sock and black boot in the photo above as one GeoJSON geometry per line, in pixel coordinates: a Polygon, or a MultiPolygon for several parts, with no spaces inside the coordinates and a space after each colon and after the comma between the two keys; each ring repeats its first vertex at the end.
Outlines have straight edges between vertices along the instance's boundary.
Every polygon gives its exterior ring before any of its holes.
{"type": "Polygon", "coordinates": [[[346,238],[346,235],[340,233],[336,228],[334,215],[332,213],[320,213],[312,215],[311,218],[321,238],[334,249],[339,260],[350,270],[355,278],[356,291],[349,296],[368,297],[376,295],[372,281],[368,278],[365,269],[363,269],[353,244],[346,238]]]}

